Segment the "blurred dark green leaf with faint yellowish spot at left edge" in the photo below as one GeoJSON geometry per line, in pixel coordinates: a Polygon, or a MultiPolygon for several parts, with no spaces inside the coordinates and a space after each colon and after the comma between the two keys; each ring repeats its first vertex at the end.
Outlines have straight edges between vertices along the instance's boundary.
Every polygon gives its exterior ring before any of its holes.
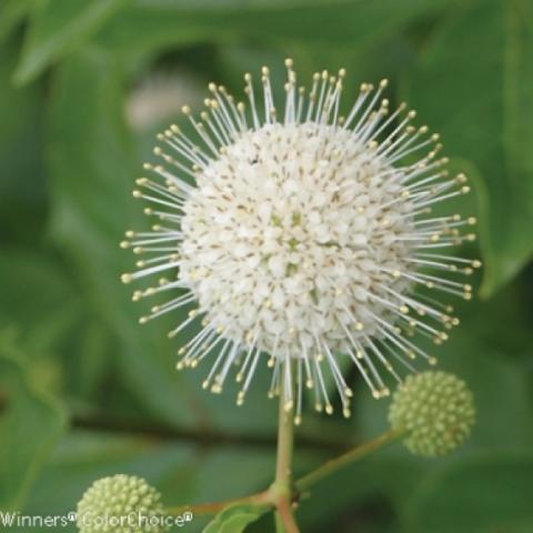
{"type": "Polygon", "coordinates": [[[109,374],[117,339],[88,309],[72,269],[50,251],[4,248],[0,280],[0,324],[18,336],[28,379],[54,393],[90,398],[109,374]]]}

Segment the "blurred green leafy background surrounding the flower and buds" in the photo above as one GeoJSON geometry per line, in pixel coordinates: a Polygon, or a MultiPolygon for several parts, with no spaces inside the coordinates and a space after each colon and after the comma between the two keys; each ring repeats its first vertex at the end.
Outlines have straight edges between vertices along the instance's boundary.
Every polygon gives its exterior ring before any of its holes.
{"type": "MultiPolygon", "coordinates": [[[[445,459],[395,446],[353,465],[302,502],[303,531],[533,532],[531,0],[0,0],[0,509],[66,513],[114,473],[167,504],[270,482],[266,369],[239,409],[201,390],[203,369],[178,374],[169,323],[138,325],[118,243],[148,224],[131,189],[154,133],[200,109],[209,81],[239,92],[288,56],[300,80],[345,67],[345,100],[391,79],[471,178],[454,209],[477,215],[462,253],[484,263],[435,351],[475,393],[472,439],[445,459]]],[[[350,380],[351,420],[304,416],[296,474],[386,428],[388,401],[350,380]]]]}

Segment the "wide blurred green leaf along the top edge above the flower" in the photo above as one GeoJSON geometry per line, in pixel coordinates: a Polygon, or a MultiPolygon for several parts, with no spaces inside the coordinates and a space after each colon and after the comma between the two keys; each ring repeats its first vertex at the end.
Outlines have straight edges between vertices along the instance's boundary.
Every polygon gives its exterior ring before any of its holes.
{"type": "Polygon", "coordinates": [[[100,37],[107,47],[130,53],[242,38],[281,41],[288,49],[300,41],[362,48],[450,3],[450,0],[132,0],[131,7],[121,13],[122,23],[107,24],[100,37]]]}

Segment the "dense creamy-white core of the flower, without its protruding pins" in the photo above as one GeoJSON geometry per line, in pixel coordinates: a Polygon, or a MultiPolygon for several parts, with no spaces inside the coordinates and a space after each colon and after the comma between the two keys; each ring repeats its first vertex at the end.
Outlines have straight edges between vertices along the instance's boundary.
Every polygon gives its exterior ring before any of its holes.
{"type": "Polygon", "coordinates": [[[376,334],[388,291],[409,284],[390,272],[411,255],[402,237],[414,231],[413,207],[396,201],[402,185],[386,161],[351,137],[265,124],[199,175],[179,279],[213,326],[279,359],[348,352],[350,326],[358,341],[376,334]]]}

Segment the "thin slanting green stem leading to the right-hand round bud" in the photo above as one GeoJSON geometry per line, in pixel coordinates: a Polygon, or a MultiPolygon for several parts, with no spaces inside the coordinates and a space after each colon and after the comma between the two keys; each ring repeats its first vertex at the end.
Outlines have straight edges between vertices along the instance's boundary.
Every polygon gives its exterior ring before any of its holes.
{"type": "Polygon", "coordinates": [[[391,444],[403,435],[403,431],[391,430],[376,439],[365,442],[360,446],[349,450],[346,453],[339,455],[335,459],[328,461],[326,463],[319,466],[316,470],[313,470],[309,474],[304,475],[296,481],[296,490],[299,492],[306,491],[312,485],[321,481],[322,479],[333,474],[338,470],[346,466],[348,464],[354,463],[355,461],[370,455],[371,453],[382,449],[383,446],[391,444]]]}

